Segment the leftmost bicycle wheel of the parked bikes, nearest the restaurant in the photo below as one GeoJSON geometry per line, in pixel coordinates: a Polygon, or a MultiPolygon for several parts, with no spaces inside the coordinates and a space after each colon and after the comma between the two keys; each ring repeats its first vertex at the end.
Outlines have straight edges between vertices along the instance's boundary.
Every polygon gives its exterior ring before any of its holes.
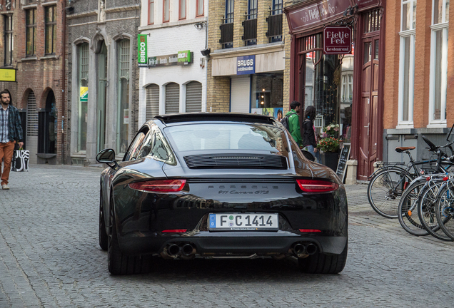
{"type": "Polygon", "coordinates": [[[412,179],[403,169],[391,168],[378,172],[368,185],[370,206],[383,217],[397,218],[403,190],[412,179]]]}

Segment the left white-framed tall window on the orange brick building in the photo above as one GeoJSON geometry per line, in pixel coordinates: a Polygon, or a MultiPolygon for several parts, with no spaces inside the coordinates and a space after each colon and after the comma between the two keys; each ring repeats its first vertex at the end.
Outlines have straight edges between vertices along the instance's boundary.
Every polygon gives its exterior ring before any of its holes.
{"type": "Polygon", "coordinates": [[[413,125],[416,0],[403,0],[400,10],[398,125],[413,125]]]}

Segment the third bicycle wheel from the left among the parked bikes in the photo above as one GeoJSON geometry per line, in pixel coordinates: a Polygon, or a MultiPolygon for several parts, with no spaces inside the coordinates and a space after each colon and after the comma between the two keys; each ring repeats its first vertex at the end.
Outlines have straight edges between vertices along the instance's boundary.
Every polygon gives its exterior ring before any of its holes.
{"type": "Polygon", "coordinates": [[[421,197],[418,200],[418,218],[430,235],[438,240],[452,241],[453,239],[445,235],[445,232],[440,229],[435,214],[438,191],[444,183],[443,180],[431,180],[424,185],[420,193],[421,197]]]}

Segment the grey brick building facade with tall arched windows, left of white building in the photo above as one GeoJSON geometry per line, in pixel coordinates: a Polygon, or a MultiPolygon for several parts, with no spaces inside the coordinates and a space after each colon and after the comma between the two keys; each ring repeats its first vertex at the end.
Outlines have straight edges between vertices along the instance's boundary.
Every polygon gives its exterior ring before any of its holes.
{"type": "Polygon", "coordinates": [[[68,159],[95,163],[99,150],[126,152],[138,126],[139,0],[69,1],[68,159]]]}

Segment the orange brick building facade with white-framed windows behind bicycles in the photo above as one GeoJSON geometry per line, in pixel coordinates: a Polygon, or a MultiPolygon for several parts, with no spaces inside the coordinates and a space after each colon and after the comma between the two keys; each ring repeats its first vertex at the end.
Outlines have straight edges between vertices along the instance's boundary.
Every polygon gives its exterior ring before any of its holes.
{"type": "Polygon", "coordinates": [[[408,160],[397,146],[415,146],[413,157],[429,158],[421,135],[445,145],[454,123],[454,6],[390,1],[385,14],[383,160],[408,160]]]}

